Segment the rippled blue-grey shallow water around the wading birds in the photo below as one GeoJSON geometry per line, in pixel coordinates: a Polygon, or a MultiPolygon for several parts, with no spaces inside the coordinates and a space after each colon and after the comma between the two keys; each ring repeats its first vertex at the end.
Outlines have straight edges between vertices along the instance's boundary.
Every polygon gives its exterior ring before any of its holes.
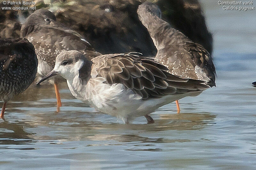
{"type": "Polygon", "coordinates": [[[181,114],[175,103],[159,108],[148,125],[144,117],[122,124],[66,88],[56,113],[53,87],[32,87],[9,102],[0,120],[0,167],[254,169],[256,14],[224,11],[217,1],[203,6],[214,35],[216,88],[181,99],[181,114]]]}

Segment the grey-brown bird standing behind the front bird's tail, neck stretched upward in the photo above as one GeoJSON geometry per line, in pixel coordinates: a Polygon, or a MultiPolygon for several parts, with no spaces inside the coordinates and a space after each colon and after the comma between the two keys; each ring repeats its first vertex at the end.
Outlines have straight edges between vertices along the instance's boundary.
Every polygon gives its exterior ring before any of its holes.
{"type": "MultiPolygon", "coordinates": [[[[166,66],[169,73],[202,80],[209,87],[215,86],[215,67],[203,46],[192,42],[161,19],[162,14],[156,4],[145,2],[138,7],[137,13],[156,46],[155,59],[166,66]]],[[[178,100],[176,104],[177,112],[180,113],[178,100]]]]}

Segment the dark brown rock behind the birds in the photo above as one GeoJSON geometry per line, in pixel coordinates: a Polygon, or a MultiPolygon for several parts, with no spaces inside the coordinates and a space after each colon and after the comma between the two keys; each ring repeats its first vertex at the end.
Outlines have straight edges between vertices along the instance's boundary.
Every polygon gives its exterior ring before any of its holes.
{"type": "MultiPolygon", "coordinates": [[[[144,0],[142,0],[144,2],[144,0]]],[[[141,1],[141,2],[142,2],[141,1]]],[[[155,55],[156,48],[147,29],[137,15],[138,0],[53,0],[51,11],[57,20],[81,33],[102,54],[136,51],[144,55],[155,55]]],[[[36,9],[49,4],[36,2],[36,9]]],[[[158,0],[163,18],[187,35],[192,41],[212,52],[212,35],[208,32],[200,4],[197,0],[158,0]]],[[[19,15],[26,18],[30,11],[19,15]]],[[[17,14],[0,12],[0,36],[17,37],[17,14]],[[12,19],[10,19],[12,18],[12,19]],[[15,29],[14,29],[15,28],[15,29]]]]}

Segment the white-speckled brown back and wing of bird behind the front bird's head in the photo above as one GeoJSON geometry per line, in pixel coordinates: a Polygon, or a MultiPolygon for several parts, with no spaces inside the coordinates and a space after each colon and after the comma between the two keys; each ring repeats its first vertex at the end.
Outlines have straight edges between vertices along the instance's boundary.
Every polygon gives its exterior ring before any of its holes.
{"type": "Polygon", "coordinates": [[[34,45],[37,57],[50,67],[54,67],[56,56],[62,50],[78,50],[88,59],[101,55],[77,32],[58,22],[51,23],[51,25],[22,27],[20,33],[21,37],[29,39],[34,45]]]}

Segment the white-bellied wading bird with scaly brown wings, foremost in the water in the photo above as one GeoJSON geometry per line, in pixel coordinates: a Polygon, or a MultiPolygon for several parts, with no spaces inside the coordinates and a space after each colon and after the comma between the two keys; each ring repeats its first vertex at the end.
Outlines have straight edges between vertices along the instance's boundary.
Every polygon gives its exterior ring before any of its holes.
{"type": "Polygon", "coordinates": [[[203,80],[181,78],[151,57],[140,53],[100,55],[86,59],[79,51],[62,51],[54,69],[38,83],[53,76],[67,79],[73,96],[124,123],[148,115],[186,96],[198,95],[210,86],[203,80]]]}

